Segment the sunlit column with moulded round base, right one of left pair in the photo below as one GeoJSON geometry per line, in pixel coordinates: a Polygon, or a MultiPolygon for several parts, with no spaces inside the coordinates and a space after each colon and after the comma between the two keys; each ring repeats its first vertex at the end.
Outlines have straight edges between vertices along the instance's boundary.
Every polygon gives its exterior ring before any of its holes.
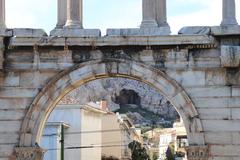
{"type": "Polygon", "coordinates": [[[83,28],[82,10],[82,0],[67,0],[67,22],[65,28],[83,28]]]}

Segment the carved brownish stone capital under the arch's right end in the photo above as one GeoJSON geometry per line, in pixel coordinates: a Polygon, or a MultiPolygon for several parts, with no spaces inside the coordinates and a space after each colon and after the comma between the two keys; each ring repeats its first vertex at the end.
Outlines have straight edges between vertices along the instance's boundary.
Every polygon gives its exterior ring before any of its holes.
{"type": "Polygon", "coordinates": [[[189,146],[186,151],[188,160],[208,160],[208,146],[189,146]]]}

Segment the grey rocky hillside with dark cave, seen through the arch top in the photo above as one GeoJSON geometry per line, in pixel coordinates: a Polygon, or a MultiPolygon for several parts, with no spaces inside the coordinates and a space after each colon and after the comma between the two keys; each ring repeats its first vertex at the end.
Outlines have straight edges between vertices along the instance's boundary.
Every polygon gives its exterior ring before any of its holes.
{"type": "Polygon", "coordinates": [[[86,104],[105,99],[111,111],[126,113],[135,124],[166,122],[178,116],[171,103],[151,86],[126,78],[91,81],[65,96],[61,104],[86,104]]]}

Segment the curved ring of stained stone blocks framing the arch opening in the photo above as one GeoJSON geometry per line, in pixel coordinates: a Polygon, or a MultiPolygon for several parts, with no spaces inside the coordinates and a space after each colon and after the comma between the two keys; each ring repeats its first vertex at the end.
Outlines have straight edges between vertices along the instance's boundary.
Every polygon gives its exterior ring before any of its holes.
{"type": "Polygon", "coordinates": [[[205,144],[196,107],[175,80],[142,63],[111,59],[81,63],[55,76],[32,102],[21,126],[19,146],[31,147],[40,141],[48,116],[67,93],[89,81],[108,77],[135,79],[156,88],[183,118],[190,145],[205,144]]]}

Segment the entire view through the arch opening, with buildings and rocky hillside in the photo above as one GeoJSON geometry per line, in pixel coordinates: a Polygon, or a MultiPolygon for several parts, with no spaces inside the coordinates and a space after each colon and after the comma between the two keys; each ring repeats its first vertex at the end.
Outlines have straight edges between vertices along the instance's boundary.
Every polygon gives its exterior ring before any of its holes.
{"type": "Polygon", "coordinates": [[[50,114],[40,142],[47,151],[44,160],[63,155],[131,159],[137,152],[131,144],[141,144],[150,159],[165,159],[186,158],[188,142],[180,115],[166,97],[129,78],[93,80],[69,92],[50,114]]]}

